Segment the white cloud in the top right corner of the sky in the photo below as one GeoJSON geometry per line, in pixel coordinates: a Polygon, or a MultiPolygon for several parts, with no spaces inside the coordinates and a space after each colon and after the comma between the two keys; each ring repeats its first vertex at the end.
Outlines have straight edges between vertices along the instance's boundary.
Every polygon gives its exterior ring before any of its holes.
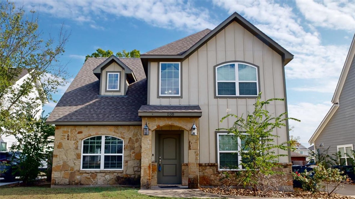
{"type": "Polygon", "coordinates": [[[355,2],[296,0],[305,18],[316,26],[340,30],[355,30],[355,2]]]}

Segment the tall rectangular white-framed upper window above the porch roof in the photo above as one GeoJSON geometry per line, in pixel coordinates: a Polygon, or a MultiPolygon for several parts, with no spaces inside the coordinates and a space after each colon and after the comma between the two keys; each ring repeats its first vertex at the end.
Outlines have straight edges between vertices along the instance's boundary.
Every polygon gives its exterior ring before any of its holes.
{"type": "Polygon", "coordinates": [[[159,96],[180,96],[180,62],[160,62],[159,96]]]}

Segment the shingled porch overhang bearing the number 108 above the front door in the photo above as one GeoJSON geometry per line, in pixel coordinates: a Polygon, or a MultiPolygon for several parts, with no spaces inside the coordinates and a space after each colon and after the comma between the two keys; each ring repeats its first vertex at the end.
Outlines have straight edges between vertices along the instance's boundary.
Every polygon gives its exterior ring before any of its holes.
{"type": "Polygon", "coordinates": [[[202,110],[198,105],[143,105],[138,116],[201,118],[202,110]]]}

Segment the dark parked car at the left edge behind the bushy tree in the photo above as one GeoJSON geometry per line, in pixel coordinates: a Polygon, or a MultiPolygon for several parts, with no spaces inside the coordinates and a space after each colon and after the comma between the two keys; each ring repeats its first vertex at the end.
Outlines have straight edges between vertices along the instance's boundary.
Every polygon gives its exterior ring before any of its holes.
{"type": "Polygon", "coordinates": [[[21,152],[0,152],[0,177],[7,182],[15,180],[18,173],[16,167],[20,164],[21,152]]]}

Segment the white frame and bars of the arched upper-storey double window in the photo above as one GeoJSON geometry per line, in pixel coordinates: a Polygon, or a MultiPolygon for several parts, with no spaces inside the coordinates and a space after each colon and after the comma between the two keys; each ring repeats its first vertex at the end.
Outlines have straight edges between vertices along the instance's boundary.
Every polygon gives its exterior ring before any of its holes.
{"type": "Polygon", "coordinates": [[[251,64],[243,63],[243,62],[230,62],[230,63],[224,63],[221,64],[217,67],[215,67],[215,86],[216,86],[216,96],[217,97],[256,97],[259,94],[259,76],[258,76],[258,67],[255,67],[251,64]],[[223,80],[218,80],[218,74],[217,74],[217,69],[219,67],[229,65],[229,64],[235,64],[235,80],[229,80],[229,81],[223,81],[223,80]],[[239,81],[239,75],[238,75],[238,64],[244,64],[250,67],[253,67],[256,69],[256,81],[239,81]],[[218,83],[219,82],[234,82],[235,83],[235,95],[218,95],[218,83]],[[256,95],[239,95],[239,83],[256,83],[256,95]]]}

